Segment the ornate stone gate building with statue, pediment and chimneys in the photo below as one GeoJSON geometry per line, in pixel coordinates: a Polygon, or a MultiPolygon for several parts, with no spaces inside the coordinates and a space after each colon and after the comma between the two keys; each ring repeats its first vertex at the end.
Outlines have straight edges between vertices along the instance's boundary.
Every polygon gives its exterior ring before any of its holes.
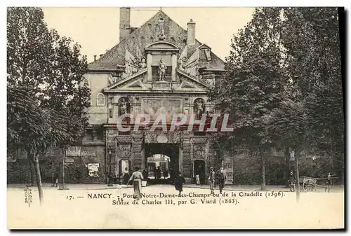
{"type": "MultiPolygon", "coordinates": [[[[170,157],[170,171],[191,181],[194,169],[217,165],[208,134],[176,130],[121,132],[115,125],[124,113],[206,113],[213,111],[206,91],[224,71],[206,44],[195,39],[196,24],[187,30],[163,11],[139,28],[130,24],[130,8],[120,8],[120,42],[88,65],[91,88],[87,135],[82,150],[91,155],[105,176],[120,175],[124,166],[147,167],[153,154],[170,157]],[[161,66],[160,66],[161,64],[161,66]],[[164,70],[160,71],[160,67],[164,70]]],[[[133,123],[129,123],[133,127],[133,123]]],[[[84,158],[84,155],[81,157],[84,158]]]]}

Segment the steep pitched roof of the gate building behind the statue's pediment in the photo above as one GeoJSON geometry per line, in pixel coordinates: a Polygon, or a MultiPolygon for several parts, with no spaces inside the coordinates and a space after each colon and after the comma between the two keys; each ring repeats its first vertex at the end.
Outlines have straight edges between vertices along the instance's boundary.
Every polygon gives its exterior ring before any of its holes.
{"type": "MultiPolygon", "coordinates": [[[[163,11],[159,11],[150,18],[150,20],[145,22],[144,25],[119,42],[117,46],[108,50],[107,53],[102,55],[102,57],[95,62],[88,64],[88,69],[91,71],[115,71],[118,68],[121,69],[125,64],[126,50],[136,56],[136,50],[139,48],[142,55],[146,57],[144,48],[150,43],[159,41],[157,24],[160,18],[164,19],[166,41],[174,43],[181,48],[178,56],[181,55],[184,48],[187,47],[187,55],[189,58],[196,48],[202,45],[202,43],[196,40],[195,46],[187,46],[187,31],[171,20],[163,11]]],[[[199,66],[207,67],[208,70],[223,70],[223,60],[220,60],[220,58],[212,52],[211,57],[211,62],[199,62],[199,66]]]]}

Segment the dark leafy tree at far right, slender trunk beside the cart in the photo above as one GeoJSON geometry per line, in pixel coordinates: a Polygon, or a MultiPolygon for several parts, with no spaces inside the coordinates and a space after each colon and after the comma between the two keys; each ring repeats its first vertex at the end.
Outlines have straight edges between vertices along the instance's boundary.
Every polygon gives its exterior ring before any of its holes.
{"type": "MultiPolygon", "coordinates": [[[[300,151],[334,155],[343,169],[343,96],[336,8],[284,9],[283,43],[289,55],[284,102],[266,116],[267,137],[292,148],[296,182],[300,151]],[[301,69],[303,68],[303,69],[301,69]]],[[[300,197],[297,187],[297,200],[300,197]]]]}

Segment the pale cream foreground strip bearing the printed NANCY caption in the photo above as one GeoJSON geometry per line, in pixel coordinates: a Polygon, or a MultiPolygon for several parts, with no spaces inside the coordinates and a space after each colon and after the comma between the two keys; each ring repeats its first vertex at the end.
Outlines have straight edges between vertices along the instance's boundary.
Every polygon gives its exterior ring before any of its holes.
{"type": "Polygon", "coordinates": [[[225,190],[226,196],[213,197],[208,196],[208,189],[184,188],[182,197],[173,197],[178,195],[173,186],[148,186],[143,193],[145,197],[133,204],[133,188],[44,187],[44,204],[39,207],[37,188],[32,188],[30,206],[25,203],[25,188],[8,188],[8,227],[308,228],[319,224],[322,228],[343,227],[343,192],[301,193],[298,204],[295,193],[279,190],[225,190]],[[326,211],[328,215],[321,214],[326,211]]]}

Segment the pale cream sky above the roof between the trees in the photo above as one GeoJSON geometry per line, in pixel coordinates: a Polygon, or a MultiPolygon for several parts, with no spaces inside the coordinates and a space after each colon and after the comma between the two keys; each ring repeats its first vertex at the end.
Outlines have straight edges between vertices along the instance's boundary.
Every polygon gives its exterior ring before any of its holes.
{"type": "MultiPolygon", "coordinates": [[[[140,27],[160,8],[131,8],[131,27],[140,27]]],[[[162,8],[172,20],[187,29],[196,22],[196,38],[212,48],[221,59],[230,52],[233,34],[252,18],[254,8],[162,8]]],[[[81,45],[81,53],[93,61],[119,43],[119,8],[43,8],[49,29],[56,29],[81,45]]]]}

